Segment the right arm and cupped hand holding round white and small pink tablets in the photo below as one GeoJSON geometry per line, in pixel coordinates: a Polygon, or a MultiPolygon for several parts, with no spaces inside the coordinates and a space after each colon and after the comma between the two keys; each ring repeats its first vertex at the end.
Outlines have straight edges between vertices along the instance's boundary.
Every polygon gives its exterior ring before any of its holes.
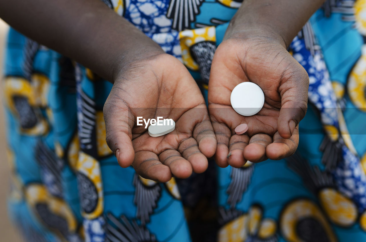
{"type": "Polygon", "coordinates": [[[231,20],[214,54],[208,94],[220,167],[282,159],[296,151],[309,77],[287,47],[322,2],[245,0],[231,20]],[[244,117],[232,109],[230,94],[248,81],[262,88],[265,103],[257,114],[244,117]],[[249,129],[236,135],[242,123],[249,129]]]}

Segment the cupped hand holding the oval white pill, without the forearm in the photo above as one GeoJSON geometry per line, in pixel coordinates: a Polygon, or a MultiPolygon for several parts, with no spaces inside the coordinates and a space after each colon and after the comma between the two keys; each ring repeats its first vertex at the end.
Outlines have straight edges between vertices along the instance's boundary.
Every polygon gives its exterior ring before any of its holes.
{"type": "Polygon", "coordinates": [[[144,178],[166,182],[201,173],[214,155],[216,137],[205,101],[186,67],[168,54],[127,64],[105,102],[107,144],[122,167],[132,165],[144,178]],[[137,117],[172,118],[175,130],[150,137],[137,117]]]}

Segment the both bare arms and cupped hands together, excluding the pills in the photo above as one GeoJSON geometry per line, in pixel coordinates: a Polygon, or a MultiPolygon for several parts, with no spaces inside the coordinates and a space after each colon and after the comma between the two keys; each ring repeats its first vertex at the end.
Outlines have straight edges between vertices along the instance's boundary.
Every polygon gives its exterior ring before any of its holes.
{"type": "Polygon", "coordinates": [[[0,16],[113,83],[104,106],[109,147],[120,166],[132,165],[142,177],[165,182],[203,172],[214,154],[219,166],[239,167],[247,159],[280,159],[295,152],[308,79],[285,47],[321,2],[244,1],[214,55],[213,125],[184,65],[101,1],[0,0],[0,16]],[[248,80],[264,89],[266,102],[257,115],[243,117],[229,106],[228,94],[248,80]],[[215,105],[226,106],[229,115],[214,111],[215,105]],[[156,118],[160,111],[176,121],[173,134],[152,138],[135,125],[137,116],[156,118]],[[248,135],[235,135],[242,122],[249,125],[248,135]]]}

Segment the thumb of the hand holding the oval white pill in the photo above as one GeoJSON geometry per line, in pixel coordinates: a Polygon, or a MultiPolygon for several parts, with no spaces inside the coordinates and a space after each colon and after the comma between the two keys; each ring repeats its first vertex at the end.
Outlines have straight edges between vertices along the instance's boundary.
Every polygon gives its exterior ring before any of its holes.
{"type": "Polygon", "coordinates": [[[135,155],[132,146],[133,114],[126,103],[111,91],[103,107],[103,116],[109,148],[116,155],[120,166],[130,166],[135,155]]]}

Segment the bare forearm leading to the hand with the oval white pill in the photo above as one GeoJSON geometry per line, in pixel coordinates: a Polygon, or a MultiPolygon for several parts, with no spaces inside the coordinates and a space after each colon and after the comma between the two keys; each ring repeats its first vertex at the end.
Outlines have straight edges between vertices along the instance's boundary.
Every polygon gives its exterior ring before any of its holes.
{"type": "Polygon", "coordinates": [[[0,17],[110,81],[128,61],[163,52],[100,0],[0,0],[0,17]]]}

